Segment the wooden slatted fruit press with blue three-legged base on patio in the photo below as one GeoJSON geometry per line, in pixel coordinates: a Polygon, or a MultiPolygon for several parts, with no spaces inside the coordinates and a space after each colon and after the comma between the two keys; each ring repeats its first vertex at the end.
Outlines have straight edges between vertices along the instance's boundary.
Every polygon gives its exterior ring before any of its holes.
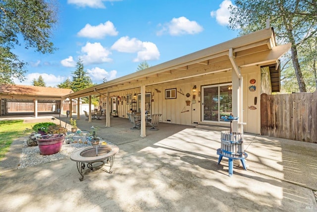
{"type": "Polygon", "coordinates": [[[217,149],[217,154],[219,155],[218,164],[220,164],[222,157],[227,157],[229,160],[229,176],[233,174],[233,160],[240,160],[242,166],[247,170],[245,158],[248,154],[244,152],[243,148],[243,133],[232,132],[232,121],[237,121],[238,117],[233,116],[221,116],[221,119],[230,122],[230,132],[221,132],[221,148],[217,149]]]}

